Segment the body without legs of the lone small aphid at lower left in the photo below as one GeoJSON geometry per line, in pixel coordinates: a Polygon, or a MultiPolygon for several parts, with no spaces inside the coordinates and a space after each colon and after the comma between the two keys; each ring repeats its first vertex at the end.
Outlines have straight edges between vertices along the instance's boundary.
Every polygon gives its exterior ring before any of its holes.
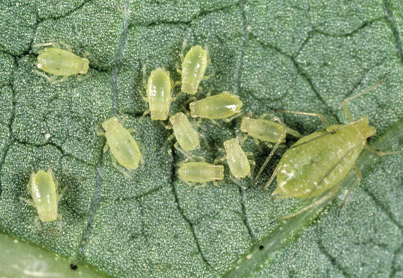
{"type": "Polygon", "coordinates": [[[32,201],[42,222],[57,218],[57,195],[53,178],[45,171],[39,170],[31,182],[32,201]]]}

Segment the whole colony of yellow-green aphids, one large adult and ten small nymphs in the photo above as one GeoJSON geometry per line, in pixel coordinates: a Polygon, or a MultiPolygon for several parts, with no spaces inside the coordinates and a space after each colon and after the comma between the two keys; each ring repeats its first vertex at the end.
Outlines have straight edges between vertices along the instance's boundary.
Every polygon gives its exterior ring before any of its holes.
{"type": "MultiPolygon", "coordinates": [[[[86,56],[90,54],[86,52],[83,57],[79,57],[73,54],[70,46],[61,41],[60,44],[67,51],[62,50],[54,42],[33,45],[34,47],[53,46],[53,48],[46,48],[38,52],[37,63],[38,68],[53,74],[53,76],[48,77],[37,70],[34,70],[34,72],[45,77],[51,84],[65,81],[70,75],[74,74],[78,75],[79,81],[87,78],[88,74],[85,78],[81,78],[81,74],[87,73],[89,61],[86,56]],[[56,80],[57,76],[63,77],[56,80]]],[[[242,116],[242,102],[238,96],[230,94],[228,91],[215,96],[210,96],[209,92],[203,100],[197,100],[193,97],[185,103],[191,102],[189,104],[189,115],[192,118],[198,118],[199,121],[189,122],[186,115],[182,112],[170,115],[169,108],[172,101],[175,101],[183,93],[195,95],[197,90],[201,90],[199,86],[200,81],[209,77],[205,76],[206,68],[210,64],[207,48],[192,46],[186,55],[183,55],[185,45],[186,40],[183,42],[179,55],[181,70],[179,70],[178,64],[176,65],[177,71],[181,75],[181,81],[173,82],[169,76],[169,72],[163,68],[153,70],[146,81],[146,66],[144,65],[143,87],[146,96],[143,93],[143,89],[139,88],[138,91],[143,100],[149,104],[149,109],[144,112],[139,123],[148,113],[151,114],[152,120],[159,121],[164,121],[170,116],[170,125],[166,126],[166,128],[172,129],[173,134],[167,138],[162,148],[173,138],[176,139],[174,147],[186,157],[177,164],[179,165],[178,178],[189,186],[201,183],[201,186],[196,187],[199,188],[206,186],[208,181],[213,181],[216,184],[217,181],[223,180],[224,166],[218,164],[220,161],[227,162],[231,172],[231,179],[239,185],[241,185],[239,182],[241,178],[246,176],[252,177],[255,162],[248,159],[248,156],[253,157],[253,154],[244,152],[241,148],[241,143],[248,136],[253,137],[258,148],[260,148],[258,145],[259,140],[272,148],[272,151],[253,181],[253,184],[255,184],[277,148],[285,147],[286,135],[290,134],[300,139],[285,151],[263,190],[267,189],[277,176],[277,188],[272,193],[272,196],[274,196],[272,199],[311,199],[318,196],[321,196],[321,198],[313,201],[310,205],[296,213],[278,218],[280,220],[295,216],[332,197],[338,190],[339,182],[353,169],[357,175],[357,180],[350,186],[340,206],[341,209],[350,192],[361,179],[361,173],[356,167],[355,161],[364,148],[379,156],[403,153],[402,151],[381,152],[368,146],[367,141],[375,134],[375,129],[369,126],[367,116],[354,121],[347,107],[349,101],[362,96],[365,92],[380,85],[383,83],[381,81],[358,95],[343,101],[343,110],[350,121],[346,125],[330,126],[325,117],[319,113],[278,110],[280,113],[318,117],[325,128],[307,136],[301,136],[299,132],[287,127],[279,117],[273,114],[263,114],[260,118],[253,119],[251,118],[252,114],[247,113],[240,125],[240,130],[245,133],[245,137],[238,136],[237,138],[225,141],[224,149],[219,148],[220,151],[225,153],[225,156],[215,159],[214,164],[207,163],[203,157],[194,156],[190,153],[200,146],[199,137],[204,140],[204,144],[209,148],[205,136],[197,133],[194,127],[199,126],[203,118],[209,119],[212,123],[220,126],[215,120],[220,119],[229,122],[236,117],[242,116]],[[181,85],[181,91],[176,97],[172,97],[172,90],[178,84],[181,85]],[[270,118],[270,120],[265,118],[270,118]],[[195,158],[199,158],[201,161],[188,162],[195,158]]],[[[141,167],[145,164],[142,151],[140,150],[142,149],[144,153],[144,146],[137,142],[130,134],[136,132],[134,129],[126,129],[122,126],[125,121],[125,116],[123,116],[121,121],[116,117],[111,117],[102,123],[101,130],[98,130],[97,127],[97,135],[105,135],[106,137],[103,157],[105,157],[107,149],[110,148],[112,165],[126,177],[130,177],[125,169],[132,171],[139,167],[139,163],[141,163],[141,167]],[[117,165],[116,160],[125,169],[117,165]]],[[[38,223],[39,219],[42,222],[53,221],[57,218],[61,220],[61,215],[57,213],[57,203],[66,188],[63,189],[60,195],[57,195],[57,187],[57,179],[50,168],[47,172],[39,170],[37,173],[32,172],[27,185],[32,202],[20,197],[21,200],[37,209],[38,216],[35,218],[35,224],[39,230],[41,230],[38,223]]]]}

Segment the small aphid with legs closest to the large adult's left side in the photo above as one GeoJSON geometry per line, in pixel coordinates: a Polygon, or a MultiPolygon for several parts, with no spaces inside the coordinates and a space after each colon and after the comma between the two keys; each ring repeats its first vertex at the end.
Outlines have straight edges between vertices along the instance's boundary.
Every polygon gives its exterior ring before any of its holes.
{"type": "MultiPolygon", "coordinates": [[[[251,116],[251,113],[249,113],[249,116],[251,116]]],[[[257,146],[259,146],[258,140],[265,142],[268,147],[273,147],[271,143],[275,143],[272,151],[270,152],[263,165],[261,166],[259,172],[257,173],[253,184],[256,183],[257,179],[260,177],[260,174],[262,173],[264,167],[267,165],[268,161],[273,156],[277,148],[282,146],[280,144],[285,142],[287,133],[295,137],[301,137],[301,134],[298,131],[287,127],[280,120],[279,117],[274,116],[273,114],[262,114],[258,119],[244,117],[242,119],[240,129],[246,134],[245,139],[249,135],[252,136],[257,146]],[[279,123],[265,120],[265,117],[270,117],[272,120],[279,123]]]]}

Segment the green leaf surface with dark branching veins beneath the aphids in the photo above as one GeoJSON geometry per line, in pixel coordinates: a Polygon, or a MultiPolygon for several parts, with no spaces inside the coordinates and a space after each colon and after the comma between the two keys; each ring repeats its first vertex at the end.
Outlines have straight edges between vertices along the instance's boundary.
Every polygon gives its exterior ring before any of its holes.
{"type": "MultiPolygon", "coordinates": [[[[223,183],[195,190],[178,179],[175,163],[184,157],[173,144],[160,149],[171,131],[149,116],[136,126],[148,108],[137,92],[142,63],[147,74],[164,66],[179,80],[175,64],[187,38],[186,50],[208,46],[212,64],[206,74],[215,73],[201,82],[200,97],[210,87],[213,94],[229,90],[254,117],[288,109],[347,123],[341,102],[384,78],[349,109],[355,119],[367,115],[376,128],[371,145],[401,150],[402,13],[403,5],[391,0],[0,4],[0,231],[30,243],[13,248],[0,235],[0,252],[7,261],[26,261],[26,253],[32,254],[28,260],[40,255],[31,245],[45,246],[57,254],[45,251],[49,259],[61,255],[57,265],[66,268],[59,275],[73,271],[72,261],[78,270],[91,265],[119,278],[403,277],[403,155],[378,158],[364,151],[357,161],[363,178],[340,217],[354,172],[333,199],[271,224],[312,202],[273,201],[276,184],[262,191],[284,149],[255,187],[240,188],[225,166],[223,183]],[[77,55],[95,56],[89,79],[71,76],[50,85],[32,71],[38,50],[32,45],[58,40],[77,55]],[[119,111],[128,115],[124,126],[136,126],[140,135],[134,137],[146,147],[145,168],[133,171],[131,179],[112,166],[109,151],[102,160],[105,139],[95,132],[95,125],[119,117],[119,111]],[[18,197],[30,198],[31,170],[48,167],[60,188],[68,187],[58,206],[62,231],[57,222],[46,222],[38,233],[36,210],[18,197]]],[[[188,99],[178,98],[171,113],[188,99]]],[[[305,135],[322,128],[314,117],[277,115],[305,135]]],[[[207,131],[198,129],[211,149],[202,145],[195,154],[208,162],[223,155],[217,149],[223,141],[240,133],[240,119],[220,124],[203,120],[207,131]]],[[[295,140],[289,136],[287,144],[295,140]]],[[[259,152],[250,138],[242,147],[254,153],[257,170],[270,151],[262,145],[259,152]]],[[[251,186],[248,178],[242,183],[251,186]]],[[[0,274],[26,277],[22,272],[0,274]]]]}

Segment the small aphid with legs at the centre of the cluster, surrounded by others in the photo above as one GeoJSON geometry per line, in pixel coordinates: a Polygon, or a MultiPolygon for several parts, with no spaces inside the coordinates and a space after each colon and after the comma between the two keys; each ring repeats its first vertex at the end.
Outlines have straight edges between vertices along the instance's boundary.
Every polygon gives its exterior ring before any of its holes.
{"type": "MultiPolygon", "coordinates": [[[[183,113],[179,112],[171,116],[169,122],[171,123],[171,126],[166,126],[166,128],[173,129],[173,134],[168,137],[167,142],[162,146],[162,148],[164,148],[165,145],[175,137],[177,142],[174,144],[174,147],[187,157],[182,162],[188,161],[191,158],[191,155],[188,152],[194,150],[200,145],[198,139],[199,136],[204,139],[205,144],[208,146],[205,136],[203,134],[198,134],[194,130],[192,124],[187,120],[183,113]]],[[[193,123],[193,125],[194,124],[198,125],[198,123],[193,123]]]]}

